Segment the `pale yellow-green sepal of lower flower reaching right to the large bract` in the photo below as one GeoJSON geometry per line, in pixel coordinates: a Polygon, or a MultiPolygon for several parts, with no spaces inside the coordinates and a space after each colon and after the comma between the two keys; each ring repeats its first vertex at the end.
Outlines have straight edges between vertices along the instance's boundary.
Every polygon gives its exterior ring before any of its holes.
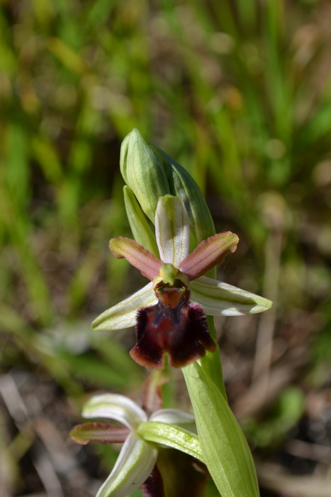
{"type": "Polygon", "coordinates": [[[198,437],[195,433],[184,430],[184,428],[167,425],[164,422],[145,421],[140,423],[137,433],[147,442],[172,447],[203,462],[198,437]]]}

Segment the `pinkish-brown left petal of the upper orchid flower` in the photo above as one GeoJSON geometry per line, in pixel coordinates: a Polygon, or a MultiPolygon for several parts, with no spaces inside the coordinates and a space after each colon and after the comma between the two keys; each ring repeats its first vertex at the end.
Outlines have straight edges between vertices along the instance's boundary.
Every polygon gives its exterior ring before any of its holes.
{"type": "Polygon", "coordinates": [[[137,241],[125,236],[117,236],[109,242],[109,249],[117,259],[125,258],[132,266],[149,280],[154,280],[159,274],[162,262],[154,253],[144,249],[137,241]]]}

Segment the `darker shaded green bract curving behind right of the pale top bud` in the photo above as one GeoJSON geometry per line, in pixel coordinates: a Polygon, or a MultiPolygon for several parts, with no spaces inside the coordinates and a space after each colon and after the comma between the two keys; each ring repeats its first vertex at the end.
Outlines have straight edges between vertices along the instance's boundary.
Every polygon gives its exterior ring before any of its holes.
{"type": "Polygon", "coordinates": [[[189,214],[189,221],[196,244],[215,234],[215,226],[211,213],[206,204],[200,188],[191,175],[157,146],[150,146],[151,151],[162,160],[162,165],[167,174],[170,193],[183,200],[189,214]]]}

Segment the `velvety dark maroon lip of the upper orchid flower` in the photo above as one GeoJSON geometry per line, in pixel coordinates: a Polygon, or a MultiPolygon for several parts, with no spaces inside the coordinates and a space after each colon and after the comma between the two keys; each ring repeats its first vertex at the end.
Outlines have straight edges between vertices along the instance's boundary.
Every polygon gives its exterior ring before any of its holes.
{"type": "MultiPolygon", "coordinates": [[[[164,293],[167,291],[163,297],[164,293]]],[[[182,368],[204,356],[206,349],[215,351],[202,307],[186,302],[186,298],[176,307],[164,306],[161,300],[157,305],[142,307],[137,315],[136,338],[130,356],[147,368],[163,368],[164,354],[169,354],[171,366],[182,368]]]]}

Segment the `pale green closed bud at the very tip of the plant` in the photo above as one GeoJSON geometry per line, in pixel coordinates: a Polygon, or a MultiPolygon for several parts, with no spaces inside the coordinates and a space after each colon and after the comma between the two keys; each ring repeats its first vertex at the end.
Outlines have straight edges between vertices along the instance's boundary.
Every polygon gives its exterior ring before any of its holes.
{"type": "Polygon", "coordinates": [[[154,223],[159,197],[170,193],[169,182],[162,160],[147,145],[138,129],[133,129],[123,140],[120,172],[142,211],[154,223]]]}

